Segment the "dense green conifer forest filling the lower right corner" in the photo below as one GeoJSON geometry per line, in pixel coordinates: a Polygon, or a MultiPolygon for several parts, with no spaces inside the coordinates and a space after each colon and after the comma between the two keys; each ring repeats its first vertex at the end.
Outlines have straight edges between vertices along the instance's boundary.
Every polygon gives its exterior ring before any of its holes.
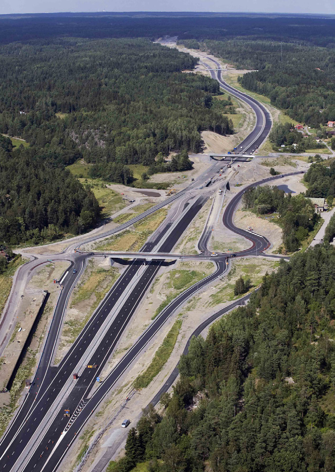
{"type": "Polygon", "coordinates": [[[329,245],[281,261],[246,307],[192,339],[163,415],[144,412],[108,472],[334,470],[334,280],[329,245]]]}

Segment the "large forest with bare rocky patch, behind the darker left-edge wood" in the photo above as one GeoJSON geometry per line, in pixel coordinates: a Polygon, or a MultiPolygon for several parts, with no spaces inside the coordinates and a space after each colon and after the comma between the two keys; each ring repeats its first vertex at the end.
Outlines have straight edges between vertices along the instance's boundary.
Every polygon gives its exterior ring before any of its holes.
{"type": "Polygon", "coordinates": [[[212,108],[218,83],[181,72],[197,59],[149,40],[33,41],[1,46],[0,58],[0,132],[31,145],[151,165],[159,152],[199,151],[201,130],[234,131],[212,108]]]}

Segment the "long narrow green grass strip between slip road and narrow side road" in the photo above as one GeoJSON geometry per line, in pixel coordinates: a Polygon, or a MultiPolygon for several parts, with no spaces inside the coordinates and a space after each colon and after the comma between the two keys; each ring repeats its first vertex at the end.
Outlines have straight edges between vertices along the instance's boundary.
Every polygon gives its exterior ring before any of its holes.
{"type": "Polygon", "coordinates": [[[163,342],[158,347],[149,367],[139,375],[134,381],[135,388],[145,388],[150,382],[156,377],[157,374],[162,370],[167,360],[170,358],[171,353],[175,347],[180,328],[182,326],[182,320],[175,321],[171,330],[165,336],[163,342]]]}

